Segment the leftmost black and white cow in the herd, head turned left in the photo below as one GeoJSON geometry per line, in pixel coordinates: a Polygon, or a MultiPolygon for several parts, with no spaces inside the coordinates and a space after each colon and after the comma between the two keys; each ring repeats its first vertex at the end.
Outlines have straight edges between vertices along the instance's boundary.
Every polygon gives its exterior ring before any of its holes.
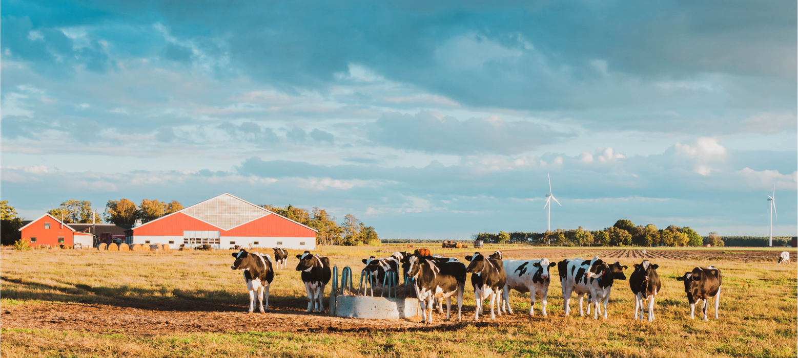
{"type": "Polygon", "coordinates": [[[269,286],[275,279],[275,270],[271,268],[271,258],[269,255],[262,255],[258,252],[248,252],[241,249],[233,253],[235,262],[231,265],[232,270],[243,270],[244,280],[247,282],[247,290],[250,294],[250,310],[255,310],[255,300],[260,302],[260,312],[269,311],[269,286]],[[266,309],[263,309],[263,305],[266,309]]]}

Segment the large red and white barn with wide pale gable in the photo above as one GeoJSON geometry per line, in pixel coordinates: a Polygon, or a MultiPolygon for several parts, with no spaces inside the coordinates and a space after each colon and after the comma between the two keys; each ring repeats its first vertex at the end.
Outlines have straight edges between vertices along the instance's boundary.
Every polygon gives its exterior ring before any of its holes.
{"type": "Polygon", "coordinates": [[[125,243],[184,244],[214,248],[286,247],[316,248],[316,232],[303,224],[275,214],[228,193],[134,226],[125,232],[125,243]]]}

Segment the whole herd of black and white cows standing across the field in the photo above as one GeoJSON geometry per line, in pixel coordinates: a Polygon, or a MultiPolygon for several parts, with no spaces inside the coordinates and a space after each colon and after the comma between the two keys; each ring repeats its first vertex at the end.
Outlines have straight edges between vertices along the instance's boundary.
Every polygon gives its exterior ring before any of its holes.
{"type": "MultiPolygon", "coordinates": [[[[249,313],[255,310],[255,302],[259,302],[261,313],[269,312],[269,286],[275,278],[275,267],[285,269],[288,253],[285,249],[275,247],[275,266],[272,265],[271,256],[241,249],[233,253],[235,262],[232,270],[243,270],[244,280],[250,295],[249,313]],[[265,308],[264,308],[265,306],[265,308]]],[[[324,312],[322,298],[324,289],[332,277],[330,259],[313,255],[305,251],[296,255],[299,260],[296,270],[302,271],[302,282],[307,290],[307,312],[324,312]]],[[[549,259],[531,260],[504,260],[502,252],[496,251],[492,255],[484,256],[480,252],[465,257],[468,267],[456,258],[441,255],[432,255],[429,249],[418,249],[412,254],[409,252],[394,252],[388,258],[377,259],[374,256],[363,259],[365,267],[361,272],[370,275],[375,288],[384,287],[388,283],[397,286],[400,277],[400,268],[404,271],[405,282],[410,282],[413,293],[418,298],[421,306],[422,321],[431,323],[433,319],[433,305],[438,305],[443,313],[443,300],[446,300],[446,319],[451,319],[452,298],[456,298],[457,320],[462,319],[463,294],[465,278],[471,274],[471,284],[474,288],[476,310],[474,320],[480,318],[483,312],[483,302],[489,299],[491,319],[496,319],[502,313],[512,314],[510,305],[510,290],[529,293],[529,314],[535,314],[535,298],[540,298],[540,310],[547,316],[546,305],[549,283],[551,282],[551,267],[557,267],[559,282],[562,286],[563,308],[565,316],[571,315],[571,296],[577,295],[579,299],[579,315],[584,316],[583,298],[587,295],[587,314],[593,309],[593,318],[599,316],[607,318],[607,304],[610,301],[610,292],[616,280],[626,280],[623,273],[628,267],[618,261],[606,262],[595,256],[593,259],[564,259],[559,263],[552,263],[549,259]],[[393,274],[390,274],[393,273],[393,274]],[[389,282],[392,280],[393,282],[389,282]],[[495,309],[495,310],[494,310],[495,309]],[[429,311],[429,313],[428,313],[429,311]]],[[[790,263],[789,253],[781,253],[779,264],[790,263]]],[[[654,321],[654,299],[662,290],[662,282],[657,274],[657,264],[645,259],[642,263],[635,263],[634,270],[629,278],[629,285],[634,294],[634,319],[642,320],[644,307],[648,310],[648,321],[654,321]]],[[[676,278],[685,285],[685,294],[690,305],[690,318],[695,317],[695,307],[701,303],[700,309],[704,311],[703,319],[706,321],[709,302],[714,300],[715,318],[718,317],[718,308],[721,302],[721,270],[717,267],[695,267],[690,272],[685,272],[676,278]]],[[[410,287],[410,286],[409,286],[410,287]]]]}

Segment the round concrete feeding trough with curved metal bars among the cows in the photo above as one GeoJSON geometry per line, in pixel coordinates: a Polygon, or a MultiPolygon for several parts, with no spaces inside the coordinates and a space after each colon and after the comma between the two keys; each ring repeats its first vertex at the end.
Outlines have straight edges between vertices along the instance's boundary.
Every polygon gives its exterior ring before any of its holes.
{"type": "MultiPolygon", "coordinates": [[[[397,287],[386,285],[389,297],[373,297],[373,286],[371,296],[366,296],[367,289],[363,286],[365,279],[366,286],[371,286],[371,275],[361,273],[361,286],[358,287],[357,294],[352,293],[352,270],[344,267],[342,270],[341,286],[338,286],[338,267],[333,267],[333,286],[330,292],[330,316],[345,318],[369,318],[382,320],[399,320],[410,317],[421,316],[421,308],[417,298],[398,298],[397,287]],[[393,287],[393,297],[391,296],[393,287]],[[361,288],[363,295],[360,295],[361,288]]],[[[387,280],[392,282],[393,280],[387,280]]],[[[385,296],[386,287],[382,288],[382,296],[385,296]]],[[[404,296],[404,294],[403,294],[404,296]]]]}

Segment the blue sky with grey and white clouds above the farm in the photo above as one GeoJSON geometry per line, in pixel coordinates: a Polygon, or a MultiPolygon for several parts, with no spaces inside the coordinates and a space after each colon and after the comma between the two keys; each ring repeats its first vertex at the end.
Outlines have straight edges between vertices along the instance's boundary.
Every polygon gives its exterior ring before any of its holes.
{"type": "Polygon", "coordinates": [[[0,200],[798,235],[798,3],[0,0],[0,200]]]}

